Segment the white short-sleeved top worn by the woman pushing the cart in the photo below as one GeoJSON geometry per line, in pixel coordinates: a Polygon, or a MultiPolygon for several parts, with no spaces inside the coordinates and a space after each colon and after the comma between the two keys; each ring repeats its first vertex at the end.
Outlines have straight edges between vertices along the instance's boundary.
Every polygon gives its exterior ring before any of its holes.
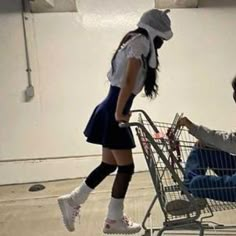
{"type": "Polygon", "coordinates": [[[112,68],[107,74],[108,80],[112,86],[122,88],[125,80],[127,62],[129,58],[137,58],[141,60],[142,66],[136,77],[136,83],[132,91],[133,94],[138,94],[144,86],[147,72],[147,62],[143,57],[147,57],[150,50],[149,40],[142,34],[137,34],[128,40],[118,51],[113,62],[114,71],[112,68]]]}

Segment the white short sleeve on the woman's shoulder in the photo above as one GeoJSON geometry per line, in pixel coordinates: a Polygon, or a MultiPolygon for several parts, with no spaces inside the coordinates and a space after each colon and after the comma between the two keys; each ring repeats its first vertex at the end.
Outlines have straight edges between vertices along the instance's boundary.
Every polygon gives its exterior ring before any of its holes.
{"type": "Polygon", "coordinates": [[[127,47],[125,48],[127,58],[141,59],[142,55],[147,57],[149,48],[149,41],[145,36],[135,36],[128,42],[127,47]]]}

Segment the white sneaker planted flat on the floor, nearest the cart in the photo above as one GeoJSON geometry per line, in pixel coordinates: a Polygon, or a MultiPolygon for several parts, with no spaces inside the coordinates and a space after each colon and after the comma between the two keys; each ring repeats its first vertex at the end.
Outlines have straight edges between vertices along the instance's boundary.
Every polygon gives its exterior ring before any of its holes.
{"type": "Polygon", "coordinates": [[[126,216],[120,220],[106,219],[103,233],[105,234],[135,234],[141,230],[141,225],[133,223],[126,216]]]}

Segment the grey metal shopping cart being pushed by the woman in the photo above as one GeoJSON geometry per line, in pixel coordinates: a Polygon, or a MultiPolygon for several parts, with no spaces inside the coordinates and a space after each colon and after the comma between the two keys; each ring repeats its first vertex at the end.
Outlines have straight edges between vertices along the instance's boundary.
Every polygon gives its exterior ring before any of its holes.
{"type": "Polygon", "coordinates": [[[156,194],[142,223],[145,235],[157,232],[157,236],[161,236],[166,230],[198,230],[199,235],[203,236],[206,229],[236,228],[234,225],[206,221],[214,212],[235,209],[236,203],[195,198],[183,183],[185,162],[197,140],[187,130],[177,129],[181,115],[176,114],[170,124],[153,122],[143,110],[132,111],[135,112],[139,113],[138,122],[122,123],[120,127],[136,127],[155,188],[156,194]],[[164,214],[164,222],[161,227],[150,227],[147,221],[152,217],[157,200],[164,214]]]}

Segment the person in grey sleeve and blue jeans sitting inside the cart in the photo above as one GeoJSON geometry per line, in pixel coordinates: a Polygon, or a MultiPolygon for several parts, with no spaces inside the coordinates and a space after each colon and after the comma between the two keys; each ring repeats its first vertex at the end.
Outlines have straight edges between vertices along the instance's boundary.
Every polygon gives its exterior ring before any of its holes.
{"type": "MultiPolygon", "coordinates": [[[[236,102],[236,77],[232,81],[236,102]]],[[[184,182],[199,198],[236,201],[236,133],[211,130],[196,125],[187,117],[180,118],[178,127],[186,127],[199,142],[186,161],[184,182]],[[216,175],[206,175],[211,169],[216,175]]]]}

